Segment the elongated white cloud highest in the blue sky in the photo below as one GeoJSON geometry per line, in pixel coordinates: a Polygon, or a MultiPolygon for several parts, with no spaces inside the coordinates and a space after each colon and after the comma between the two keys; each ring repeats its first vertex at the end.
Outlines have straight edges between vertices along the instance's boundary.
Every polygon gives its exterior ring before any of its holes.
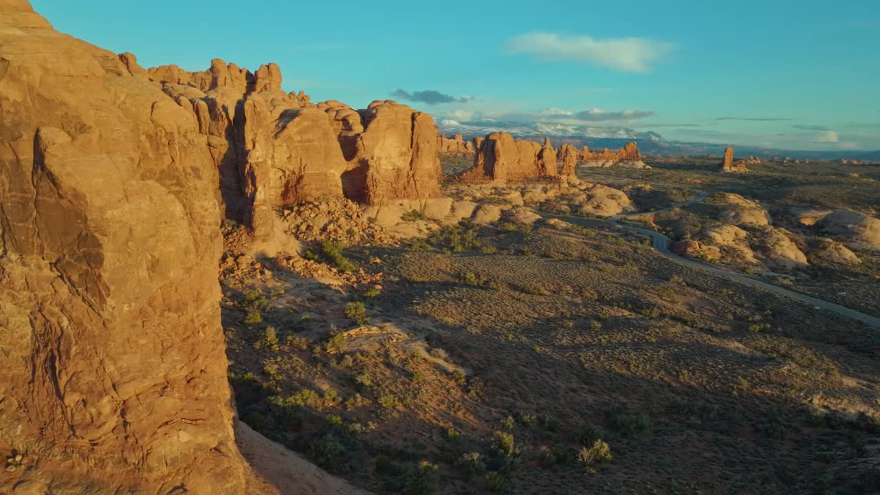
{"type": "Polygon", "coordinates": [[[666,41],[645,38],[567,36],[556,33],[520,34],[508,42],[516,53],[538,55],[548,60],[592,63],[627,72],[647,72],[674,48],[666,41]]]}

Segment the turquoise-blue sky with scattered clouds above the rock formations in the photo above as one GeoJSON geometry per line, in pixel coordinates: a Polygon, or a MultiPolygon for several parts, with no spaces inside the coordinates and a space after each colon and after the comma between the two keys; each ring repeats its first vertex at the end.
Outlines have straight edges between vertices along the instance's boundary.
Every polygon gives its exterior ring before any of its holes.
{"type": "Polygon", "coordinates": [[[32,3],[145,67],[278,63],[284,89],[313,101],[365,107],[403,90],[395,99],[438,119],[880,149],[877,0],[32,3]]]}

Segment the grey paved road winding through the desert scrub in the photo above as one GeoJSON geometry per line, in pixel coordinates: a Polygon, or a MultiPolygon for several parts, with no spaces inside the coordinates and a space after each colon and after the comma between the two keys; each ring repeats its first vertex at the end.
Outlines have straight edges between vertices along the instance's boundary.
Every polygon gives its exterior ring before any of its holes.
{"type": "MultiPolygon", "coordinates": [[[[615,225],[615,226],[618,226],[623,229],[627,229],[627,230],[632,231],[634,233],[640,233],[642,235],[648,236],[651,239],[651,247],[654,247],[654,249],[656,249],[656,251],[658,253],[671,259],[673,262],[678,262],[678,263],[696,268],[698,270],[703,270],[703,271],[706,271],[708,273],[711,273],[713,275],[717,275],[720,277],[730,278],[731,280],[737,281],[741,284],[747,284],[747,285],[752,285],[753,287],[759,287],[759,288],[764,289],[766,291],[774,292],[776,294],[788,297],[790,299],[796,299],[796,300],[801,301],[803,303],[809,304],[813,307],[819,307],[822,309],[826,309],[828,311],[832,311],[833,313],[847,316],[848,318],[852,318],[853,320],[856,320],[856,321],[862,321],[862,323],[865,323],[871,327],[880,329],[880,318],[875,318],[874,316],[871,316],[869,314],[864,314],[864,313],[855,311],[854,309],[850,309],[848,307],[843,307],[843,306],[840,306],[839,304],[834,304],[832,302],[829,302],[829,301],[826,301],[823,299],[817,299],[814,297],[810,297],[806,294],[802,294],[801,292],[790,291],[784,287],[780,287],[779,285],[768,284],[768,283],[766,283],[762,280],[758,280],[756,278],[746,277],[742,274],[739,274],[739,273],[736,273],[736,272],[733,272],[730,270],[723,270],[721,268],[711,266],[711,265],[708,265],[703,262],[698,262],[698,261],[695,261],[695,260],[692,260],[689,258],[685,258],[683,256],[676,255],[670,249],[670,244],[671,244],[670,238],[666,237],[663,233],[658,233],[656,231],[652,231],[652,230],[645,229],[642,227],[636,227],[633,225],[620,224],[620,220],[625,219],[625,218],[637,218],[637,217],[642,217],[642,216],[646,216],[646,215],[652,215],[655,213],[660,213],[662,211],[671,211],[673,208],[681,208],[681,207],[687,206],[689,204],[699,203],[700,201],[706,199],[706,197],[708,196],[708,193],[706,193],[704,191],[697,191],[697,192],[698,192],[698,195],[696,197],[694,197],[693,199],[690,199],[690,200],[683,202],[683,203],[674,204],[669,208],[664,208],[663,210],[646,211],[646,212],[642,212],[642,213],[625,213],[625,214],[615,215],[613,217],[605,218],[605,223],[615,225]]],[[[595,225],[595,222],[596,222],[595,219],[571,217],[568,215],[552,215],[551,217],[559,218],[561,220],[567,221],[568,223],[575,224],[575,225],[582,225],[582,226],[590,226],[590,223],[592,225],[595,225]]]]}

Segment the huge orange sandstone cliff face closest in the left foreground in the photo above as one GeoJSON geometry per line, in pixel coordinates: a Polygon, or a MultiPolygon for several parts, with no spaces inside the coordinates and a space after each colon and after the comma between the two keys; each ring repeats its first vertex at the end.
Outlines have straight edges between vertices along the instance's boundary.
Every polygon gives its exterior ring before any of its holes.
{"type": "Polygon", "coordinates": [[[0,0],[0,491],[254,492],[208,141],[134,57],[0,0]]]}

